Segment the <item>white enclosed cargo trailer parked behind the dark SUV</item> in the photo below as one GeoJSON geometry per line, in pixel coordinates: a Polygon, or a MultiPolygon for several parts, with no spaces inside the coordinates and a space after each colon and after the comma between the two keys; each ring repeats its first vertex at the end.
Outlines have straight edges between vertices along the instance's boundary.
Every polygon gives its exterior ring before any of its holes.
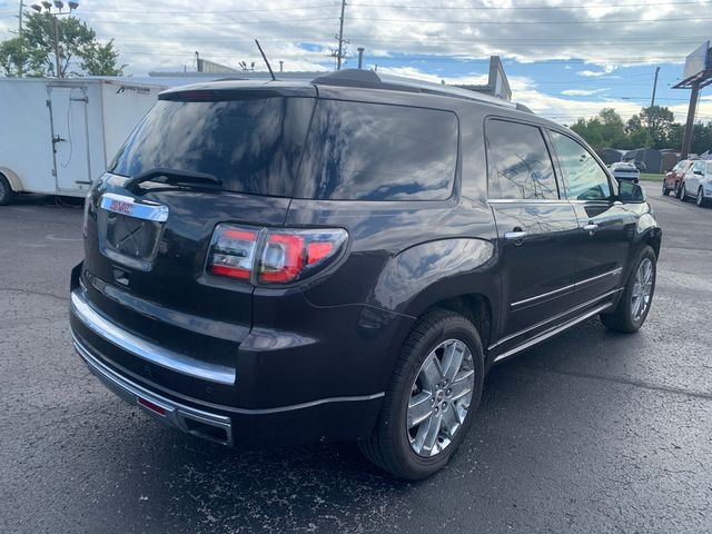
{"type": "Polygon", "coordinates": [[[157,95],[189,82],[0,78],[0,204],[14,192],[85,196],[157,95]]]}

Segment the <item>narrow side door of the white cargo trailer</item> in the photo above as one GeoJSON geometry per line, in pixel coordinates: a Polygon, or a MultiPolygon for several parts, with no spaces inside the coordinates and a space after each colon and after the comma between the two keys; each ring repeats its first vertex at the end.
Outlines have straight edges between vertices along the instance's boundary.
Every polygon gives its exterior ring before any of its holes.
{"type": "Polygon", "coordinates": [[[86,87],[49,87],[58,194],[76,192],[91,185],[88,101],[86,87]]]}

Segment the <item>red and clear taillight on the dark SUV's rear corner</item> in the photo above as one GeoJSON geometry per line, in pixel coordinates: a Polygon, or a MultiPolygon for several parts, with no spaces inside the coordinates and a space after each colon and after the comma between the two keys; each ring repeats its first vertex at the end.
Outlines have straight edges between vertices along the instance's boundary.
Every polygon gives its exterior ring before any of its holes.
{"type": "Polygon", "coordinates": [[[206,270],[253,284],[297,281],[330,265],[347,237],[340,228],[277,230],[218,225],[206,270]]]}

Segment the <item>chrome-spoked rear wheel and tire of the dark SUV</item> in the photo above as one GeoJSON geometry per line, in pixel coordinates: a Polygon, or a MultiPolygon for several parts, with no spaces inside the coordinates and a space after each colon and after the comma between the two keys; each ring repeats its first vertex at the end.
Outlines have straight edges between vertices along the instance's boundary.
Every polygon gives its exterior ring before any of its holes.
{"type": "Polygon", "coordinates": [[[404,343],[376,426],[370,437],[359,442],[359,448],[374,464],[397,477],[422,479],[435,474],[447,464],[467,435],[479,406],[483,382],[484,352],[474,325],[453,312],[427,313],[404,343]],[[446,352],[452,347],[448,343],[455,345],[453,353],[446,352]],[[458,343],[461,345],[456,345],[458,343]],[[463,347],[469,350],[471,357],[463,347]],[[442,357],[446,365],[447,355],[456,353],[464,356],[455,373],[439,374],[438,358],[442,357]],[[435,359],[437,364],[434,364],[435,359]],[[448,380],[447,376],[454,379],[448,380]],[[435,379],[431,380],[433,377],[435,379]],[[428,383],[434,386],[426,387],[428,383]],[[456,384],[457,387],[449,387],[456,384]],[[461,395],[467,387],[469,393],[461,395]],[[454,399],[455,395],[461,396],[454,399]],[[425,400],[421,403],[418,397],[425,400]],[[409,406],[418,405],[429,415],[413,415],[409,406]],[[409,415],[425,418],[408,427],[414,421],[409,415]],[[434,424],[437,424],[437,433],[431,432],[434,424]],[[454,428],[452,433],[449,425],[454,428]],[[434,446],[428,448],[426,443],[434,446]],[[416,452],[419,445],[422,448],[416,452]]]}

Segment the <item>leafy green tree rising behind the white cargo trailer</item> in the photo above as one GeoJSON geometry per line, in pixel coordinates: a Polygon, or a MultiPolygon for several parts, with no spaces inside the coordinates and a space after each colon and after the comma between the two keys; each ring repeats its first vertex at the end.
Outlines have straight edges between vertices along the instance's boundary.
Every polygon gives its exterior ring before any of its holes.
{"type": "MultiPolygon", "coordinates": [[[[19,37],[0,43],[0,68],[4,76],[27,72],[36,77],[55,77],[55,18],[47,13],[26,13],[22,40],[19,37]]],[[[119,53],[113,40],[100,43],[96,32],[76,17],[57,20],[59,33],[60,77],[120,76],[125,65],[117,63],[119,53]],[[77,67],[79,69],[77,69],[77,67]]]]}

